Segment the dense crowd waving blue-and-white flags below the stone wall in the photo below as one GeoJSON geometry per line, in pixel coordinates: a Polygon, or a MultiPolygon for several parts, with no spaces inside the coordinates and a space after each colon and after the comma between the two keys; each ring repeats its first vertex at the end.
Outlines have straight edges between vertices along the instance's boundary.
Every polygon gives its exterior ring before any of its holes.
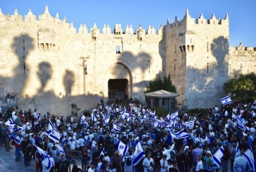
{"type": "Polygon", "coordinates": [[[206,113],[175,112],[175,118],[134,101],[101,101],[91,114],[77,117],[14,109],[0,113],[0,145],[7,152],[14,145],[15,161],[34,162],[36,171],[255,171],[255,162],[245,157],[248,150],[252,158],[256,154],[255,111],[256,102],[216,105],[206,113]],[[48,136],[50,121],[60,133],[58,141],[48,136]],[[181,130],[188,136],[175,138],[181,130]],[[120,143],[127,145],[125,152],[120,143]],[[141,157],[135,153],[138,144],[141,157]],[[221,159],[215,156],[219,150],[221,159]]]}

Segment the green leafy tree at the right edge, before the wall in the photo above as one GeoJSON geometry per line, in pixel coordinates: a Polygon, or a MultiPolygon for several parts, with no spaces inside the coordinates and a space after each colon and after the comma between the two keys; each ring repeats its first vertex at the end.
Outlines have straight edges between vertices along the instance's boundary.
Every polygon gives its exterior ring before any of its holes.
{"type": "Polygon", "coordinates": [[[224,83],[224,92],[231,93],[235,100],[248,101],[256,96],[256,75],[241,74],[238,79],[230,79],[224,83]]]}

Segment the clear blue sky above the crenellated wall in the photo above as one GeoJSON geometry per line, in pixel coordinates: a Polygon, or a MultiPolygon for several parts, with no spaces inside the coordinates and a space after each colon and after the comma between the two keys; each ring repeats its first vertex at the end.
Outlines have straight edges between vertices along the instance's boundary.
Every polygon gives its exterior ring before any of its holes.
{"type": "Polygon", "coordinates": [[[0,0],[2,13],[13,15],[17,8],[23,18],[31,9],[38,19],[46,5],[53,17],[56,13],[60,20],[65,16],[77,30],[80,24],[86,24],[90,29],[96,23],[101,32],[104,24],[109,24],[112,30],[115,24],[122,24],[122,29],[126,25],[132,25],[134,29],[139,25],[144,29],[154,25],[158,29],[160,25],[166,24],[168,18],[174,22],[175,15],[181,20],[186,9],[192,18],[198,18],[203,13],[209,19],[215,13],[216,18],[223,19],[228,13],[230,46],[238,46],[242,42],[243,46],[256,47],[255,0],[0,0]]]}

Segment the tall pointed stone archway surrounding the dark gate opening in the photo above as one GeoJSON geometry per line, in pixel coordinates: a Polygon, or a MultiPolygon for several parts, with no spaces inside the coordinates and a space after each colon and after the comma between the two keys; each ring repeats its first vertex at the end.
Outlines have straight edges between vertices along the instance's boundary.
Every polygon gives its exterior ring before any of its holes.
{"type": "Polygon", "coordinates": [[[108,68],[104,92],[108,101],[132,98],[132,73],[126,65],[116,62],[108,68]]]}

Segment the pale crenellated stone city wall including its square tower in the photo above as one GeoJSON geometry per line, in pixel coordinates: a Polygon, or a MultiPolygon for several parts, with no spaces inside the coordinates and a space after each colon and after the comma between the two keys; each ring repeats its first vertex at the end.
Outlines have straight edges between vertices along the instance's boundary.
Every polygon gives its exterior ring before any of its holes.
{"type": "MultiPolygon", "coordinates": [[[[159,29],[132,25],[78,29],[46,7],[42,15],[0,11],[0,91],[18,95],[23,110],[71,113],[72,103],[91,110],[96,96],[108,100],[108,80],[127,79],[129,98],[145,101],[151,79],[171,74],[188,108],[215,105],[222,85],[237,73],[256,72],[255,48],[229,48],[229,17],[191,18],[159,29]],[[120,52],[119,52],[120,51],[120,52]]],[[[220,102],[219,102],[220,103],[220,102]]]]}

